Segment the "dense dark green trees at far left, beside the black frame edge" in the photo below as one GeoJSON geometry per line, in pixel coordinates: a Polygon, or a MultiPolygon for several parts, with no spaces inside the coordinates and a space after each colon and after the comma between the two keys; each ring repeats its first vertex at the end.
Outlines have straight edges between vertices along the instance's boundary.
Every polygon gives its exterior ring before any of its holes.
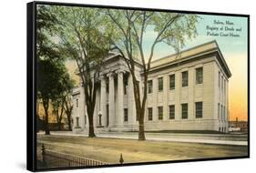
{"type": "Polygon", "coordinates": [[[36,99],[43,103],[46,134],[49,134],[49,104],[54,107],[57,122],[61,122],[64,108],[61,108],[60,118],[58,109],[63,107],[74,83],[67,74],[65,58],[62,58],[61,49],[54,39],[57,22],[48,5],[36,6],[36,99]]]}

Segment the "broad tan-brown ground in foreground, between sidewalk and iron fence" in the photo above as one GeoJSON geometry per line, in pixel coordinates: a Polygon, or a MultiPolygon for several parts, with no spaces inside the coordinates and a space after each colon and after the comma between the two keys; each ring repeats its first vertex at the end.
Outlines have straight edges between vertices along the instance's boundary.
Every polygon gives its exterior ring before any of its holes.
{"type": "Polygon", "coordinates": [[[125,163],[247,156],[246,146],[182,142],[138,141],[101,137],[37,135],[47,149],[117,164],[122,153],[125,163]]]}

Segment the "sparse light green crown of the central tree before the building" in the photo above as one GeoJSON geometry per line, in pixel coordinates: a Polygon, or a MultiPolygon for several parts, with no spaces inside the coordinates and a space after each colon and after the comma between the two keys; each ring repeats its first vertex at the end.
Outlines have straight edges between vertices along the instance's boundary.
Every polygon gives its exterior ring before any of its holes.
{"type": "Polygon", "coordinates": [[[116,33],[112,37],[115,48],[124,56],[140,58],[141,62],[148,59],[150,63],[155,46],[159,43],[166,43],[179,52],[186,39],[197,36],[197,15],[116,9],[108,10],[107,15],[112,25],[116,25],[116,33]],[[148,32],[148,27],[153,27],[157,36],[152,39],[151,54],[145,57],[143,36],[148,32]]]}

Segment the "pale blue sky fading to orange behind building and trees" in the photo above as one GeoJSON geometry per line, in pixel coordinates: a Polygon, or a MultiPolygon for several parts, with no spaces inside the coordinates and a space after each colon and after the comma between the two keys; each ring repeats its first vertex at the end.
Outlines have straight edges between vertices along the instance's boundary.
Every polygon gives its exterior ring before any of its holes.
{"type": "MultiPolygon", "coordinates": [[[[238,117],[239,120],[247,120],[247,18],[241,16],[199,15],[197,31],[198,36],[192,40],[187,39],[185,46],[181,50],[198,46],[212,40],[217,41],[220,46],[220,51],[232,74],[229,79],[230,120],[235,120],[236,117],[238,117]],[[234,30],[225,31],[225,26],[229,28],[233,27],[234,30]],[[220,30],[221,27],[223,28],[222,31],[220,30]],[[222,34],[220,35],[220,33],[222,34]]],[[[152,40],[156,36],[157,33],[153,31],[153,28],[148,27],[143,39],[143,48],[146,56],[149,55],[152,40]]],[[[160,43],[155,48],[153,59],[169,56],[174,53],[173,48],[164,43],[160,43]]],[[[76,66],[74,62],[67,63],[67,67],[73,70],[73,74],[74,66],[76,66]]]]}

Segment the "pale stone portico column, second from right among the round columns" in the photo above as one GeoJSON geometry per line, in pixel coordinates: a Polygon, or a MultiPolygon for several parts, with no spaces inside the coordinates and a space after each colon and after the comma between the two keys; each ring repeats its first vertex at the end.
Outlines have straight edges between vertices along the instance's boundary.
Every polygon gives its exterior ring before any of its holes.
{"type": "Polygon", "coordinates": [[[108,94],[108,107],[109,107],[109,127],[115,125],[115,81],[114,73],[110,73],[109,77],[109,94],[108,94]]]}

